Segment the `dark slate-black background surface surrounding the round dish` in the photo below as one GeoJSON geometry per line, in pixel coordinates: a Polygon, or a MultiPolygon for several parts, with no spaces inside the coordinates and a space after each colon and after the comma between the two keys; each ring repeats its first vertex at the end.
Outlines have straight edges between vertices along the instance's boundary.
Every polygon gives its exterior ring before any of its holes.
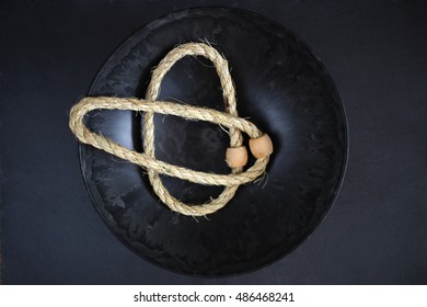
{"type": "Polygon", "coordinates": [[[0,1],[1,253],[5,284],[426,284],[424,1],[0,1]],[[227,5],[270,18],[324,62],[349,157],[326,219],[254,273],[194,278],[154,266],[106,228],[84,190],[68,112],[143,24],[227,5]]]}

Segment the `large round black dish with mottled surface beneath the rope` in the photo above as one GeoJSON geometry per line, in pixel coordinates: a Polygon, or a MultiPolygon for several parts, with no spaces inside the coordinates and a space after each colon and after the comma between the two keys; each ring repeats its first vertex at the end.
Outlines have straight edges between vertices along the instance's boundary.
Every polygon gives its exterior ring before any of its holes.
{"type": "MultiPolygon", "coordinates": [[[[151,68],[175,45],[200,39],[227,57],[240,116],[272,137],[268,175],[241,186],[223,209],[193,218],[161,204],[135,164],[82,145],[81,169],[102,218],[136,253],[175,272],[230,275],[280,259],[320,224],[344,174],[346,122],[331,77],[298,37],[233,9],[185,10],[146,25],[105,62],[90,95],[143,98],[151,68]]],[[[223,110],[215,69],[198,57],[172,68],[159,99],[223,110]]],[[[92,130],[142,150],[139,114],[99,111],[88,117],[92,130]]],[[[229,172],[221,127],[160,115],[155,125],[158,159],[229,172]]],[[[184,202],[203,203],[221,191],[171,178],[164,182],[184,202]]]]}

